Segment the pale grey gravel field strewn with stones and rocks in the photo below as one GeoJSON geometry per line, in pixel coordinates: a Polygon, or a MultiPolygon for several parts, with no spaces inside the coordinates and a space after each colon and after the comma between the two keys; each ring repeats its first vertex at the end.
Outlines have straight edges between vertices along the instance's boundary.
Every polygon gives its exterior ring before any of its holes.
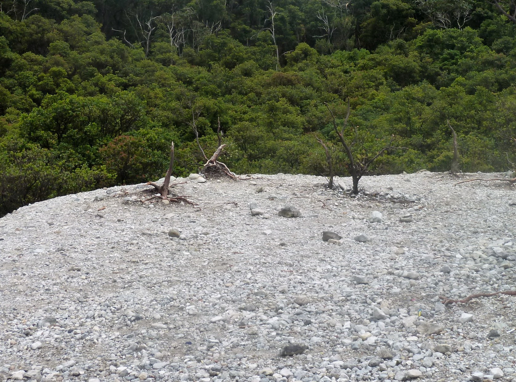
{"type": "Polygon", "coordinates": [[[176,179],[0,219],[0,381],[512,381],[508,173],[176,179]],[[283,217],[287,211],[299,217],[283,217]],[[299,211],[297,211],[299,210],[299,211]],[[323,232],[325,240],[323,240],[323,232]]]}

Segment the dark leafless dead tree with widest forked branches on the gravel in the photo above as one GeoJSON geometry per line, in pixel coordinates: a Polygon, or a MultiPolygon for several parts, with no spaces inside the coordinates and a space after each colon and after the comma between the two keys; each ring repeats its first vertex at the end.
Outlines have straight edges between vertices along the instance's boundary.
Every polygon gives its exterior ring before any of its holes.
{"type": "Polygon", "coordinates": [[[348,144],[348,142],[346,142],[346,139],[344,138],[344,133],[346,131],[346,126],[348,124],[349,114],[350,114],[350,110],[351,110],[350,104],[349,104],[349,98],[348,98],[348,107],[347,107],[347,112],[346,112],[346,118],[344,119],[344,123],[342,125],[341,130],[339,130],[337,128],[337,122],[335,120],[335,116],[326,102],[325,102],[325,105],[326,105],[326,108],[328,109],[328,112],[330,112],[331,118],[333,120],[333,129],[335,130],[335,133],[337,134],[338,139],[340,140],[340,142],[344,148],[344,151],[346,152],[346,155],[348,157],[349,172],[351,173],[351,178],[353,180],[353,189],[351,190],[351,193],[353,195],[357,195],[358,194],[358,182],[364,176],[364,174],[367,173],[370,164],[372,164],[385,151],[393,148],[392,142],[394,141],[394,135],[391,137],[391,140],[390,140],[388,146],[382,148],[380,151],[378,151],[373,156],[364,155],[364,157],[361,160],[358,160],[355,158],[355,156],[351,152],[351,148],[354,146],[354,144],[356,144],[357,139],[358,139],[358,129],[357,129],[358,126],[354,129],[354,138],[350,144],[348,144]]]}

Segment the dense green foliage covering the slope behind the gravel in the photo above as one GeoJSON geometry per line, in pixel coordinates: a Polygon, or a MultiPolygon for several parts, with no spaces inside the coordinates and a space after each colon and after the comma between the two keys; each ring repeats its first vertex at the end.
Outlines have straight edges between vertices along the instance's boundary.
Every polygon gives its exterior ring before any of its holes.
{"type": "Polygon", "coordinates": [[[515,162],[514,0],[0,0],[0,216],[93,187],[175,175],[217,146],[235,172],[373,173],[515,162]],[[348,129],[353,138],[354,128],[348,129]],[[512,145],[512,146],[511,146],[512,145]],[[509,161],[508,161],[509,160],[509,161]]]}

